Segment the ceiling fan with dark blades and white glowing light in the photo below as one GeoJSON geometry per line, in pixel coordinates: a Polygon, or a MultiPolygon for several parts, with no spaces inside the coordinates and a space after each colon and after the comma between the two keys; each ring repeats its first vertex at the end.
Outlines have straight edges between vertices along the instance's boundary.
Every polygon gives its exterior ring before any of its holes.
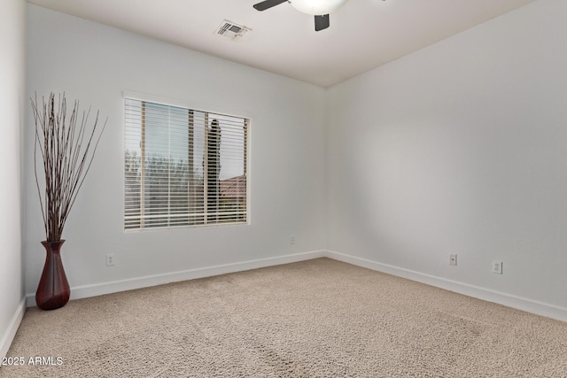
{"type": "Polygon", "coordinates": [[[348,0],[264,0],[254,4],[254,9],[266,11],[267,9],[282,4],[290,3],[299,12],[315,16],[315,31],[326,29],[330,26],[329,13],[338,10],[348,0]]]}

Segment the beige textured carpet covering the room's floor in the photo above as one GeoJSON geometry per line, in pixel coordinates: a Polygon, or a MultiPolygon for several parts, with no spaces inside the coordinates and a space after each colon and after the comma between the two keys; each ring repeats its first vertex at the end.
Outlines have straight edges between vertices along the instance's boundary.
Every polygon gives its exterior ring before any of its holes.
{"type": "Polygon", "coordinates": [[[567,323],[319,258],[30,308],[8,356],[2,377],[567,377],[567,323]]]}

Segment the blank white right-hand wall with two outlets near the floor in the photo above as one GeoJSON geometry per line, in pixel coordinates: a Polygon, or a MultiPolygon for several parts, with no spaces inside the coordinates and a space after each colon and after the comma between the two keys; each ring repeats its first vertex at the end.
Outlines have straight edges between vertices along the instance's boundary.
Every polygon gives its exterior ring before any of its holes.
{"type": "Polygon", "coordinates": [[[566,15],[541,0],[331,88],[328,248],[565,316],[566,15]]]}

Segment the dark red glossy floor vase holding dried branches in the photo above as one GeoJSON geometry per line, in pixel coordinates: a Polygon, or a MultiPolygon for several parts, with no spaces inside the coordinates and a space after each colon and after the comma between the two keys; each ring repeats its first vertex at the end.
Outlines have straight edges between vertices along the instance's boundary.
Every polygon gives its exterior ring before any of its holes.
{"type": "Polygon", "coordinates": [[[42,278],[35,292],[35,303],[42,310],[55,310],[69,301],[71,289],[61,262],[61,246],[65,240],[42,242],[46,257],[42,278]]]}

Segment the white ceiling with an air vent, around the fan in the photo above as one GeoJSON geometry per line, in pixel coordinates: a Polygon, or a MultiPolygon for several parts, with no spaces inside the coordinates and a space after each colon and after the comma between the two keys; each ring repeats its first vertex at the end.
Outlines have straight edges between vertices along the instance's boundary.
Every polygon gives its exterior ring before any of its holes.
{"type": "Polygon", "coordinates": [[[27,0],[191,50],[329,87],[534,0],[350,0],[315,32],[313,16],[260,0],[27,0]],[[228,19],[251,32],[216,35],[228,19]]]}

